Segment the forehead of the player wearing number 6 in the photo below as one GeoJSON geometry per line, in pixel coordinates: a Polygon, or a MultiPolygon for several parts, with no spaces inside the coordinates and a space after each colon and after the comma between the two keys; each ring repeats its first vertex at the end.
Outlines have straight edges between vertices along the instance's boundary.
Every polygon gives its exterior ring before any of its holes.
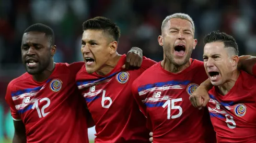
{"type": "Polygon", "coordinates": [[[103,42],[106,41],[106,38],[106,34],[103,33],[103,30],[85,30],[83,32],[82,41],[103,42]]]}

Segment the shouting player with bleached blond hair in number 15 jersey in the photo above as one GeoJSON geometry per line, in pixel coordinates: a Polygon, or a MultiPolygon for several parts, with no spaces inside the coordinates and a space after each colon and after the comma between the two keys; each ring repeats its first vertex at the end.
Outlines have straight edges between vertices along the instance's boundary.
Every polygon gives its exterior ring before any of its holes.
{"type": "Polygon", "coordinates": [[[156,143],[216,142],[207,109],[198,110],[189,100],[196,87],[207,79],[203,62],[190,58],[197,43],[194,31],[190,16],[167,16],[158,37],[164,60],[133,82],[134,98],[147,117],[156,143]]]}

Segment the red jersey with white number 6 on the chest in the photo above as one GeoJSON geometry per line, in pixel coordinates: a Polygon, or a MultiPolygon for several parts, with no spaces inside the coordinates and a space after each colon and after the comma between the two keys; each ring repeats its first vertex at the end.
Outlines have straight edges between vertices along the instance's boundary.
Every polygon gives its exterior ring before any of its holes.
{"type": "Polygon", "coordinates": [[[132,96],[133,81],[156,62],[143,57],[138,70],[121,71],[126,55],[106,76],[88,74],[85,66],[77,73],[78,88],[95,121],[97,143],[149,142],[145,116],[132,96]]]}

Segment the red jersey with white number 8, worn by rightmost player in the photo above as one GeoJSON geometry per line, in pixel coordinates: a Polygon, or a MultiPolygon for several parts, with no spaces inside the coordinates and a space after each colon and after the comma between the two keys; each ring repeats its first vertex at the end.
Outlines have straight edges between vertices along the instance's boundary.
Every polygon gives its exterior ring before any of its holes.
{"type": "Polygon", "coordinates": [[[207,104],[219,142],[256,142],[256,77],[241,71],[226,95],[209,91],[207,104]]]}

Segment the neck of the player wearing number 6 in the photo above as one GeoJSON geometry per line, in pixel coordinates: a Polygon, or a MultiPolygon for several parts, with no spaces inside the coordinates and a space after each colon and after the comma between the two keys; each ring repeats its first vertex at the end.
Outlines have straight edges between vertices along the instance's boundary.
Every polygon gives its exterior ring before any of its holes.
{"type": "Polygon", "coordinates": [[[113,55],[113,57],[110,60],[108,60],[106,64],[104,64],[102,68],[98,70],[96,73],[102,76],[109,74],[115,68],[115,66],[117,66],[120,58],[121,55],[119,55],[118,53],[113,55]]]}

